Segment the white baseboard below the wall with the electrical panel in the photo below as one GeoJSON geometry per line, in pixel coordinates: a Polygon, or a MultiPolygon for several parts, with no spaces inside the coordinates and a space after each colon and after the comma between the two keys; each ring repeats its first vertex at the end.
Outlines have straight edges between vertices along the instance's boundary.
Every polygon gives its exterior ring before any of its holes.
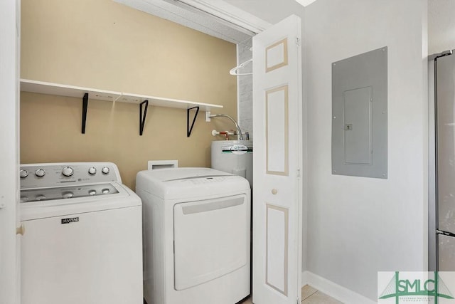
{"type": "Polygon", "coordinates": [[[365,298],[363,295],[353,292],[341,285],[328,281],[326,278],[318,276],[310,271],[304,271],[301,273],[301,281],[303,285],[310,285],[317,290],[321,290],[322,293],[330,295],[332,298],[336,298],[343,303],[349,304],[373,304],[375,301],[365,298]]]}

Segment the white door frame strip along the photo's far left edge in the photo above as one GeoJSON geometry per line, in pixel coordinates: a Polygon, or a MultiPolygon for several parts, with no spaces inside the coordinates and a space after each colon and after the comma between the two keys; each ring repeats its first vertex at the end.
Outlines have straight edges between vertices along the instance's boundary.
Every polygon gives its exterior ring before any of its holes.
{"type": "Polygon", "coordinates": [[[0,1],[0,303],[18,303],[16,1],[0,1]]]}

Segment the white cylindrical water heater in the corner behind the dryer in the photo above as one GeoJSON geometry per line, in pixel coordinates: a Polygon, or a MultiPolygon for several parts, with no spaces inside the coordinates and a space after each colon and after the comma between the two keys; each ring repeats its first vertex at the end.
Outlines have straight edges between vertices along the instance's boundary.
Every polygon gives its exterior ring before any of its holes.
{"type": "Polygon", "coordinates": [[[245,177],[253,186],[253,141],[215,140],[212,142],[212,168],[245,177]]]}

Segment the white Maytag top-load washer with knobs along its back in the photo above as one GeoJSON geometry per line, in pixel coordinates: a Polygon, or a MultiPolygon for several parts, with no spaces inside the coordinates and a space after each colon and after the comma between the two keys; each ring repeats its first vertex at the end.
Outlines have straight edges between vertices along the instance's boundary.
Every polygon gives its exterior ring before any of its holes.
{"type": "Polygon", "coordinates": [[[21,165],[21,303],[141,304],[141,200],[109,162],[21,165]]]}

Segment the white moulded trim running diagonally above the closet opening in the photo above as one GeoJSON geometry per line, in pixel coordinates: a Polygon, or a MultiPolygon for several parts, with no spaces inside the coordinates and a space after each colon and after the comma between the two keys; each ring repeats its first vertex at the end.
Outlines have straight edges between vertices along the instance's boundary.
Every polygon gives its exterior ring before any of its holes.
{"type": "Polygon", "coordinates": [[[254,33],[260,33],[264,29],[272,26],[271,23],[257,18],[242,9],[232,6],[223,0],[177,0],[184,4],[205,11],[208,14],[217,16],[220,19],[224,19],[230,23],[233,23],[242,28],[246,28],[254,33]]]}

